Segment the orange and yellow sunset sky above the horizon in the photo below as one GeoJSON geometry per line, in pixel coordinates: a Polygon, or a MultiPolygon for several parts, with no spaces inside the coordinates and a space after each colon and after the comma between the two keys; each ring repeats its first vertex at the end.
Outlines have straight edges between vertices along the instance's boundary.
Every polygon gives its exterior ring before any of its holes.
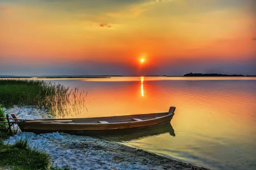
{"type": "Polygon", "coordinates": [[[0,75],[189,72],[256,75],[256,0],[0,0],[0,75]]]}

